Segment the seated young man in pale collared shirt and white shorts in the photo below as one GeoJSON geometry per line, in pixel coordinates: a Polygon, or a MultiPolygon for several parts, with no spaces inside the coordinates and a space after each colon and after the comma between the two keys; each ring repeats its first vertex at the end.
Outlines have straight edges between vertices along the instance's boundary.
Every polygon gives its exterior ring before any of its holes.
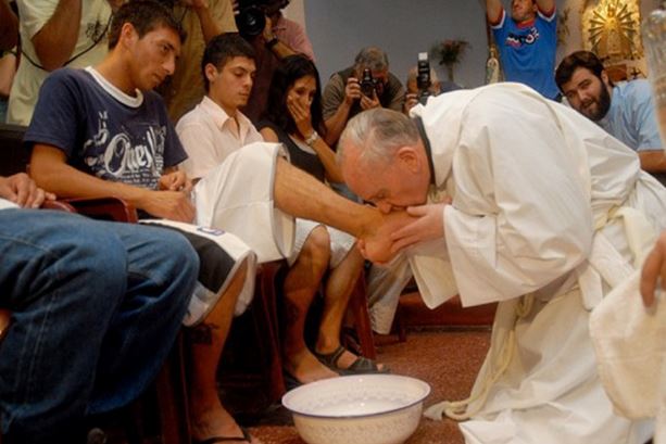
{"type": "MultiPolygon", "coordinates": [[[[291,58],[287,58],[285,63],[291,58]]],[[[309,59],[303,60],[314,68],[309,59]]],[[[206,46],[201,67],[206,97],[176,126],[188,153],[187,161],[178,168],[194,180],[206,176],[241,147],[263,140],[250,119],[239,111],[248,101],[256,71],[252,47],[238,35],[219,35],[206,46]]],[[[282,71],[278,68],[276,76],[282,71]]],[[[286,90],[274,91],[272,87],[269,106],[282,101],[286,94],[286,90]]],[[[287,112],[286,105],[284,107],[287,112]]],[[[277,138],[272,141],[277,141],[277,138]]],[[[287,149],[292,156],[298,155],[291,147],[287,145],[287,149]]],[[[330,151],[328,147],[325,149],[330,151]]],[[[314,158],[313,162],[319,162],[316,155],[314,158]]],[[[252,242],[251,239],[243,240],[252,242]]],[[[284,287],[282,351],[285,369],[298,382],[331,378],[338,372],[378,370],[373,361],[354,356],[340,345],[340,326],[347,303],[363,266],[363,259],[353,245],[354,238],[347,233],[310,220],[297,221],[297,248],[288,256],[291,267],[284,287]],[[329,267],[331,272],[325,286],[326,301],[315,348],[317,358],[305,344],[304,326],[307,309],[329,267]]]]}

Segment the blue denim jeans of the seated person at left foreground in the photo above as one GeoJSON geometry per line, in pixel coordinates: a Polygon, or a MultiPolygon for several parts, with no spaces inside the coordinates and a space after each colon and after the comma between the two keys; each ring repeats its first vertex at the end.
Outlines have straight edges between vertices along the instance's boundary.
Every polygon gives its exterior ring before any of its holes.
{"type": "Polygon", "coordinates": [[[199,262],[161,228],[0,211],[3,442],[71,442],[87,415],[135,399],[180,328],[199,262]]]}

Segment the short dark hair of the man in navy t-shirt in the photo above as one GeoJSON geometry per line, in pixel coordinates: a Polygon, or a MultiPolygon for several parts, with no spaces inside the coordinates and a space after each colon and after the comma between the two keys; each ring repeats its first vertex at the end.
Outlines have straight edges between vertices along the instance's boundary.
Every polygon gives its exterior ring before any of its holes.
{"type": "Polygon", "coordinates": [[[113,14],[109,28],[109,49],[115,48],[121,38],[121,29],[129,23],[139,34],[139,38],[161,26],[171,28],[178,34],[180,42],[185,41],[186,33],[173,12],[154,0],[133,0],[124,3],[113,14]]]}

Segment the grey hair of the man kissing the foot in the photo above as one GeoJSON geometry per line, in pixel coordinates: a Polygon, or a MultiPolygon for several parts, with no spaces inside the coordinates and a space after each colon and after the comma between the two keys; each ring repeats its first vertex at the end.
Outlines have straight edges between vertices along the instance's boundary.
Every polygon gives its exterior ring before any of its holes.
{"type": "Polygon", "coordinates": [[[349,120],[338,143],[338,163],[344,160],[345,147],[356,147],[359,163],[386,165],[395,151],[414,145],[419,135],[416,125],[402,113],[377,107],[364,111],[349,120]]]}

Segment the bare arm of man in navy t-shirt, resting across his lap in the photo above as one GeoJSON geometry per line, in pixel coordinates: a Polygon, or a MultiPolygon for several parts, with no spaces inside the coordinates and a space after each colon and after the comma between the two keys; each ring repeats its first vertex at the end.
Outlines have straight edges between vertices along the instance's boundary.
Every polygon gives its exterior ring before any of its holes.
{"type": "Polygon", "coordinates": [[[30,176],[38,187],[62,198],[113,196],[158,217],[191,221],[194,216],[193,206],[185,192],[153,191],[99,179],[67,165],[65,154],[51,145],[35,145],[30,176]]]}

